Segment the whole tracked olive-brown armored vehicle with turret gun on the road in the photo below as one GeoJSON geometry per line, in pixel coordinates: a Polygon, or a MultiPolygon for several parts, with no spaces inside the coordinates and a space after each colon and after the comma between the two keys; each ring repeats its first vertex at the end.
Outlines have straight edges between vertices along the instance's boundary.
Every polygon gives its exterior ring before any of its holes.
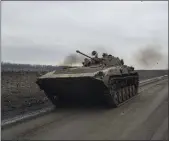
{"type": "Polygon", "coordinates": [[[36,83],[50,101],[58,106],[63,101],[100,100],[108,107],[118,107],[138,92],[139,75],[134,67],[124,65],[118,57],[96,51],[86,56],[81,67],[66,67],[40,76],[36,83]]]}

